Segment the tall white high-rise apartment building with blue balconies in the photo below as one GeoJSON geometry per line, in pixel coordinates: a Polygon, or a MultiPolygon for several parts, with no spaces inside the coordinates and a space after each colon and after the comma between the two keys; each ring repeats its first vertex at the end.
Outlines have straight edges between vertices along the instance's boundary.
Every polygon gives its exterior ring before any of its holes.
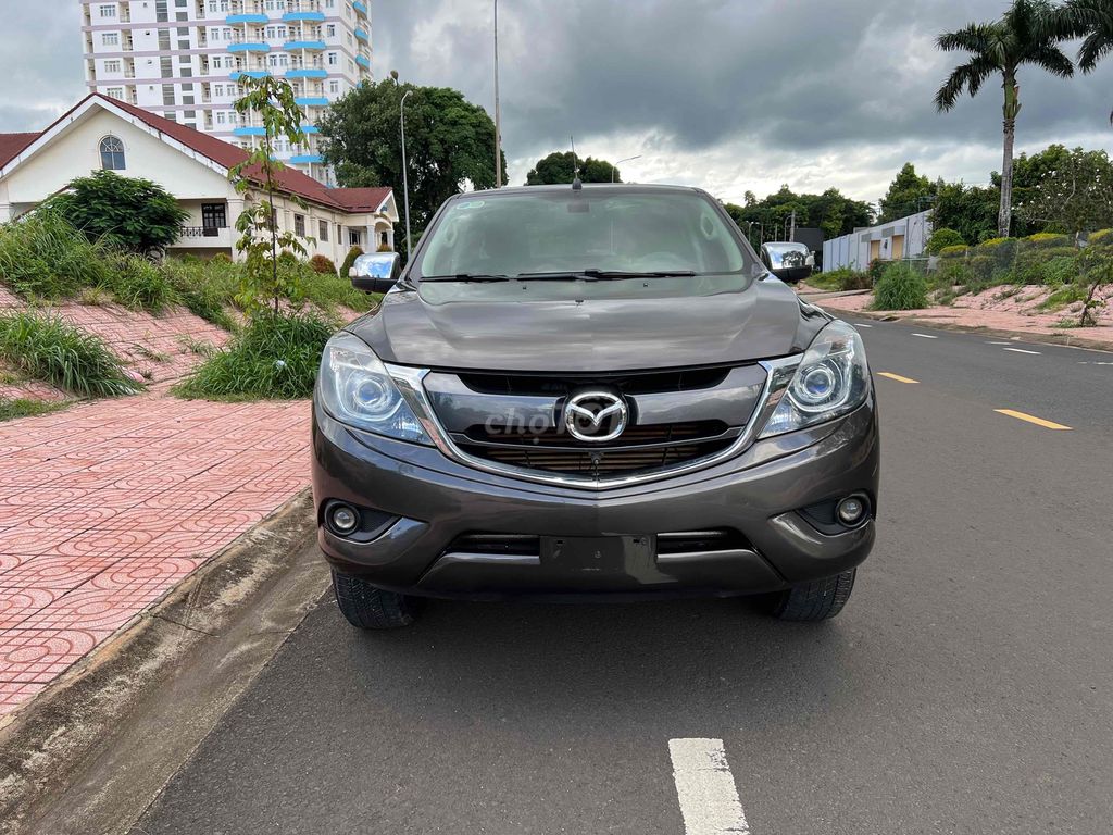
{"type": "Polygon", "coordinates": [[[245,148],[264,134],[233,102],[242,76],[282,76],[307,141],[276,156],[318,180],[325,107],[371,78],[370,0],[80,0],[90,91],[138,105],[245,148]]]}

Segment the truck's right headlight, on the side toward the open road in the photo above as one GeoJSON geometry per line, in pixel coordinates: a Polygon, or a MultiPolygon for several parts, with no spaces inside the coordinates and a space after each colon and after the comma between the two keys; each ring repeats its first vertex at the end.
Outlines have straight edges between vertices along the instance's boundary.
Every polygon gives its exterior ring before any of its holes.
{"type": "Polygon", "coordinates": [[[851,412],[869,394],[869,366],[858,332],[831,322],[804,354],[761,438],[823,423],[851,412]]]}

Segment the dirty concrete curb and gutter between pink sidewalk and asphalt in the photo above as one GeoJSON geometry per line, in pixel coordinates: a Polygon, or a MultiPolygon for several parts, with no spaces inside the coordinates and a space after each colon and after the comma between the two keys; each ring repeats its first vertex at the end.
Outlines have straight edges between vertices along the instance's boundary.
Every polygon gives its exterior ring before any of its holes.
{"type": "Polygon", "coordinates": [[[308,489],[0,725],[0,833],[126,832],[327,587],[308,489]]]}

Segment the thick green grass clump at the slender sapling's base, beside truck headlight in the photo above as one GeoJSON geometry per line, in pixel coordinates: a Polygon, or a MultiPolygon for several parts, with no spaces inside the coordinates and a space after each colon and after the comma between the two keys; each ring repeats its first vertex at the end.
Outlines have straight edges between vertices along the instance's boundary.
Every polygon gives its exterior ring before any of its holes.
{"type": "Polygon", "coordinates": [[[332,333],[327,322],[312,314],[260,312],[175,392],[218,400],[308,397],[332,333]]]}

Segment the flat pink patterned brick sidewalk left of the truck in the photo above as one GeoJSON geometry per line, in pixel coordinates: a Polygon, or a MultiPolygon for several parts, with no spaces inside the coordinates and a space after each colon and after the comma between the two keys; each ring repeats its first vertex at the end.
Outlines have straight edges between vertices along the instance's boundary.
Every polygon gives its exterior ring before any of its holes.
{"type": "Polygon", "coordinates": [[[0,423],[0,715],[305,487],[308,432],[159,393],[0,423]]]}

